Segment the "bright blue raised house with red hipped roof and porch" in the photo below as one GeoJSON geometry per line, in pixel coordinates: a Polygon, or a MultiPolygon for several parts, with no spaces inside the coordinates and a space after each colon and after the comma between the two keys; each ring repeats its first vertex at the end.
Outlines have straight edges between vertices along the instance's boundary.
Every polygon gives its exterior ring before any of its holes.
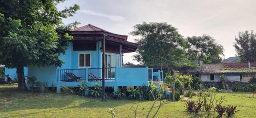
{"type": "Polygon", "coordinates": [[[76,87],[81,81],[89,86],[101,85],[102,56],[105,56],[105,86],[148,85],[149,80],[163,82],[163,71],[144,67],[122,67],[124,53],[135,52],[138,43],[127,41],[126,35],[114,34],[93,25],[86,25],[69,32],[74,37],[69,41],[66,53],[59,58],[65,62],[61,67],[29,66],[28,76],[48,87],[67,85],[76,87]],[[102,40],[105,37],[105,55],[102,55],[102,40]]]}

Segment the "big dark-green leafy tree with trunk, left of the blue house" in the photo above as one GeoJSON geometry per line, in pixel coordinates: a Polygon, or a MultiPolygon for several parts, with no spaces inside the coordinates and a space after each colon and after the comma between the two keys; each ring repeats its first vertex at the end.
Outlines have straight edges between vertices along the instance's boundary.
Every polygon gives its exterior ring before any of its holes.
{"type": "Polygon", "coordinates": [[[67,39],[72,38],[63,31],[77,23],[63,26],[61,19],[79,9],[73,5],[58,11],[56,5],[64,1],[0,1],[0,63],[17,69],[18,90],[25,90],[25,66],[63,63],[58,56],[65,53],[67,39]]]}

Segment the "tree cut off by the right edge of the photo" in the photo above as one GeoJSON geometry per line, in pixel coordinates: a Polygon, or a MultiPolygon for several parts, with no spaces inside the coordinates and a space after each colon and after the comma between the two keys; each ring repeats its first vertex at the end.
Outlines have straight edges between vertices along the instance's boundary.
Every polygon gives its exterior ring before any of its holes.
{"type": "Polygon", "coordinates": [[[235,37],[234,48],[242,62],[256,62],[256,34],[251,31],[239,32],[235,37]]]}

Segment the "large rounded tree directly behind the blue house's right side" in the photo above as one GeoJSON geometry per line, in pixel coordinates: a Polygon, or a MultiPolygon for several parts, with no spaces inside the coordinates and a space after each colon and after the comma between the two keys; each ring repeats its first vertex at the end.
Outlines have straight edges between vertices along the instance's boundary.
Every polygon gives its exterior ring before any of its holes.
{"type": "Polygon", "coordinates": [[[135,59],[145,65],[175,65],[184,58],[185,40],[178,29],[166,22],[143,22],[131,32],[140,44],[135,59]]]}

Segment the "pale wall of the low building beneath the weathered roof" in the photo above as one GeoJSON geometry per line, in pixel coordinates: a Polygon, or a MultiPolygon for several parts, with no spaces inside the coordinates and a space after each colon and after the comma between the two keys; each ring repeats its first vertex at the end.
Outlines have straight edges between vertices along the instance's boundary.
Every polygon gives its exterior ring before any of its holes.
{"type": "MultiPolygon", "coordinates": [[[[201,74],[200,78],[203,82],[219,82],[220,76],[223,74],[214,74],[214,80],[210,80],[210,74],[201,74]]],[[[240,82],[240,74],[224,74],[226,81],[238,81],[240,82]]]]}

